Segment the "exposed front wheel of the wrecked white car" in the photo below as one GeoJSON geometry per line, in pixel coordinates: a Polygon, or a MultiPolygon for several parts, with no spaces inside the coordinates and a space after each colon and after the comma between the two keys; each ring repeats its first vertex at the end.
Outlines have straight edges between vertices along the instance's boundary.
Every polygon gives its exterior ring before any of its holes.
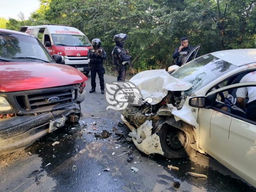
{"type": "Polygon", "coordinates": [[[194,152],[190,146],[190,135],[183,130],[163,125],[157,135],[166,158],[187,157],[194,152]]]}

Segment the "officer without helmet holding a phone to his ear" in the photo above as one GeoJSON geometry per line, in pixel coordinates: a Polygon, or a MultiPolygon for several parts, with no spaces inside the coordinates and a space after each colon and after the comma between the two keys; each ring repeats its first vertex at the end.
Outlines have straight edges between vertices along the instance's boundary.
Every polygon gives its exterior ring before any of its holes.
{"type": "MultiPolygon", "coordinates": [[[[181,66],[185,61],[187,55],[189,55],[190,51],[193,49],[191,45],[189,45],[189,40],[187,37],[182,37],[180,39],[180,46],[177,48],[172,56],[173,59],[176,59],[176,64],[181,66]]],[[[193,54],[190,56],[189,62],[193,58],[193,54]]]]}

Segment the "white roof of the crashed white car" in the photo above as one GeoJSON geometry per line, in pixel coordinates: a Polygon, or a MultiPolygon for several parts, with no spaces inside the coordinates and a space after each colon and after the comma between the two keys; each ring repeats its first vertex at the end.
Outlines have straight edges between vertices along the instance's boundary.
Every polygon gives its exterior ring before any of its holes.
{"type": "Polygon", "coordinates": [[[236,66],[256,63],[256,49],[231,49],[212,52],[211,55],[218,57],[236,66]]]}

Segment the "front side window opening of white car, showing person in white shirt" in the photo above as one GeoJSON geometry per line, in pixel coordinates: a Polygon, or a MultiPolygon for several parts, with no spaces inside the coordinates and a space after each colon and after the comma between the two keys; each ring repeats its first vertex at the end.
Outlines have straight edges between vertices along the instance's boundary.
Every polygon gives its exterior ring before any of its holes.
{"type": "Polygon", "coordinates": [[[234,117],[256,122],[256,82],[255,86],[235,87],[216,94],[213,108],[234,117]],[[235,92],[234,95],[229,92],[235,92]]]}

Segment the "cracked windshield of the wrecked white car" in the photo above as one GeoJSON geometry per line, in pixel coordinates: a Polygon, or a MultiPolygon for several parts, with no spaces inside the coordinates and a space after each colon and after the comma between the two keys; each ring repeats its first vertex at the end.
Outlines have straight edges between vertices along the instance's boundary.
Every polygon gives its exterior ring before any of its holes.
{"type": "Polygon", "coordinates": [[[187,97],[237,67],[208,54],[183,65],[177,71],[173,72],[171,76],[193,84],[193,87],[184,93],[184,97],[187,97]]]}

